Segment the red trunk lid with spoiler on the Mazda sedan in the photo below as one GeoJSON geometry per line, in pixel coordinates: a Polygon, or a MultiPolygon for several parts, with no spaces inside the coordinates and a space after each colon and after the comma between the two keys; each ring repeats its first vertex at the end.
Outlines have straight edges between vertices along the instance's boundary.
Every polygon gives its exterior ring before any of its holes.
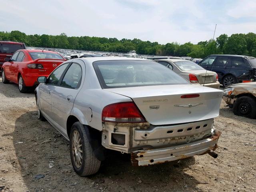
{"type": "MultiPolygon", "coordinates": [[[[62,59],[36,59],[33,63],[42,64],[43,68],[37,69],[39,74],[49,75],[56,67],[66,60],[62,59]]],[[[35,69],[33,69],[34,71],[35,69]]]]}

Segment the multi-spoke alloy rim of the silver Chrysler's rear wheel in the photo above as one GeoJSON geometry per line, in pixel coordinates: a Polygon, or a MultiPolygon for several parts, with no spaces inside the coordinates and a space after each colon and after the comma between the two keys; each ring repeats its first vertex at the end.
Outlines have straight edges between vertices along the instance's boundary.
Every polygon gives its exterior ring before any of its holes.
{"type": "Polygon", "coordinates": [[[77,130],[74,130],[72,135],[72,158],[77,168],[80,168],[83,160],[82,139],[77,130]]]}

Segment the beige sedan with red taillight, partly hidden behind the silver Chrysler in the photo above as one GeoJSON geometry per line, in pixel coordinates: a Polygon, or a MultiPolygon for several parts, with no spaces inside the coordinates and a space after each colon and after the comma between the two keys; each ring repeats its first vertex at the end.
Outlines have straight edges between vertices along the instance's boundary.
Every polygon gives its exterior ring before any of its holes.
{"type": "Polygon", "coordinates": [[[218,74],[216,74],[216,72],[206,71],[204,68],[192,61],[182,59],[161,59],[154,61],[173,70],[192,84],[216,89],[220,88],[218,74]]]}

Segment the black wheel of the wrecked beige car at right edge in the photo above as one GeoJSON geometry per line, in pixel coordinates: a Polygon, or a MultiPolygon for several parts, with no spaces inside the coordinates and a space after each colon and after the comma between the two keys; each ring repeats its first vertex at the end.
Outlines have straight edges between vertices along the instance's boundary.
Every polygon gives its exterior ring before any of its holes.
{"type": "Polygon", "coordinates": [[[233,106],[235,115],[244,116],[251,119],[256,118],[256,101],[248,96],[239,97],[233,106]]]}

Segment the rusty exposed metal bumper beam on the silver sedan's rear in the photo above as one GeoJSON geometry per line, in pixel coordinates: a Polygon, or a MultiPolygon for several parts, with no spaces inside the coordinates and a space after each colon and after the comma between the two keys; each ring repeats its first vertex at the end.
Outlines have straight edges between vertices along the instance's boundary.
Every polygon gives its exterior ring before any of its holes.
{"type": "Polygon", "coordinates": [[[210,150],[214,150],[216,148],[220,134],[221,132],[217,131],[216,134],[209,138],[189,144],[160,149],[134,151],[132,153],[132,164],[134,166],[147,166],[206,154],[210,150]]]}

